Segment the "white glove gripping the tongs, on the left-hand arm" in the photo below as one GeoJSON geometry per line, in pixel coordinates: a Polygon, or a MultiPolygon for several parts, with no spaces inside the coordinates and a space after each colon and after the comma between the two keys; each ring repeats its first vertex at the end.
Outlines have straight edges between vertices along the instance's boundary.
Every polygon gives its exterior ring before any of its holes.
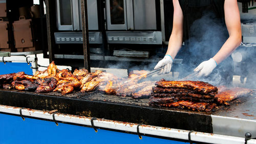
{"type": "Polygon", "coordinates": [[[157,63],[154,69],[164,67],[159,71],[158,75],[168,74],[170,73],[170,69],[172,69],[172,64],[173,58],[170,55],[165,55],[164,58],[157,63]]]}

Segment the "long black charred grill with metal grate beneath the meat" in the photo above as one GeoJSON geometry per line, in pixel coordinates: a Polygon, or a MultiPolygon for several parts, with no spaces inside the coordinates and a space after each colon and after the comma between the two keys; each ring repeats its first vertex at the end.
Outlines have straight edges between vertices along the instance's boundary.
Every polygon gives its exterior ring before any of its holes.
{"type": "MultiPolygon", "coordinates": [[[[217,112],[205,113],[175,108],[151,107],[148,106],[148,99],[133,100],[130,97],[117,97],[98,91],[88,93],[75,91],[61,95],[58,92],[34,93],[0,89],[1,105],[48,111],[57,109],[60,113],[208,133],[213,132],[210,114],[225,116],[230,114],[234,116],[234,113],[243,113],[245,108],[248,107],[251,107],[250,110],[254,114],[256,111],[254,106],[254,103],[256,103],[255,95],[246,99],[247,101],[241,105],[231,105],[231,108],[236,110],[230,111],[223,107],[224,109],[222,108],[217,112]],[[237,106],[239,106],[239,109],[236,108],[237,106]]],[[[251,118],[253,119],[253,117],[251,118]]]]}

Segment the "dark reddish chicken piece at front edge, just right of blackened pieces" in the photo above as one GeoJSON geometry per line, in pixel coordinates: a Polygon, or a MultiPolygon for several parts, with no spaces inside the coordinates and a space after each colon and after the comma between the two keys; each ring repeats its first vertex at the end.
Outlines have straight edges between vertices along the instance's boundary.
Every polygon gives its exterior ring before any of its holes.
{"type": "Polygon", "coordinates": [[[57,86],[57,80],[55,78],[45,78],[37,80],[36,83],[40,85],[36,88],[35,92],[51,92],[57,86]]]}

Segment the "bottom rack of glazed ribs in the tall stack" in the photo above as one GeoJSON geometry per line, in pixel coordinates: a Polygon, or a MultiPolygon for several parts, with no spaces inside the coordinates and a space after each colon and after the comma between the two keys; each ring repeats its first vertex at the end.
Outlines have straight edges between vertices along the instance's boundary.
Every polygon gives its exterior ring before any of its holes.
{"type": "Polygon", "coordinates": [[[176,107],[179,109],[189,109],[193,111],[212,111],[218,108],[214,103],[204,103],[204,102],[191,102],[191,101],[178,101],[173,103],[165,103],[165,104],[155,104],[150,103],[151,106],[158,107],[176,107]]]}

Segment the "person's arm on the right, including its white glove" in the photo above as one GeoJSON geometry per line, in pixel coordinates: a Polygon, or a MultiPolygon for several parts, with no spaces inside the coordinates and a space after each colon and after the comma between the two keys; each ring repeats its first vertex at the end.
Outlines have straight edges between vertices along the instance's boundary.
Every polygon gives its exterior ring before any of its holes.
{"type": "Polygon", "coordinates": [[[241,44],[242,32],[237,1],[225,0],[224,13],[229,37],[214,57],[202,62],[194,69],[194,71],[198,72],[198,77],[208,76],[219,63],[230,56],[230,54],[241,44]]]}

